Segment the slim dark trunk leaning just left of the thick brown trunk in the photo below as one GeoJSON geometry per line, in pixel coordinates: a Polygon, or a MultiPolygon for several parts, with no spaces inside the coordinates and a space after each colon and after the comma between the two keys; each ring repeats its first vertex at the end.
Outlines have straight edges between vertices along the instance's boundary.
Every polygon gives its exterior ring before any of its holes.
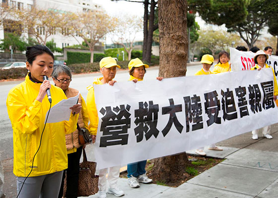
{"type": "Polygon", "coordinates": [[[154,24],[154,9],[155,9],[155,1],[151,0],[150,3],[150,14],[148,20],[148,35],[147,35],[147,47],[144,60],[150,63],[151,58],[151,46],[152,46],[152,36],[153,36],[153,24],[154,24]]]}

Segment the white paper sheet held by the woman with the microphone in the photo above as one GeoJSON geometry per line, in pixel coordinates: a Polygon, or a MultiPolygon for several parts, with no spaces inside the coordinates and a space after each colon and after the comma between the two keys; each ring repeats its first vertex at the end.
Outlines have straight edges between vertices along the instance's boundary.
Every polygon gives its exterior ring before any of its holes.
{"type": "MultiPolygon", "coordinates": [[[[57,104],[55,104],[51,109],[47,119],[47,123],[61,122],[64,120],[70,120],[70,107],[77,103],[78,96],[80,92],[75,97],[71,97],[69,99],[63,99],[57,104]]],[[[46,116],[48,111],[46,113],[46,116]]],[[[45,117],[46,120],[46,117],[45,117]]]]}

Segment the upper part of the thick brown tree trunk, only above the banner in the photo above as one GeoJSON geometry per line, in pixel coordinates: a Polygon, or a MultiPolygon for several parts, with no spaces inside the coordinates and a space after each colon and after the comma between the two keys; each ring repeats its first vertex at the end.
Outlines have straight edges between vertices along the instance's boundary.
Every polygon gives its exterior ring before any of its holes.
{"type": "Polygon", "coordinates": [[[159,0],[159,76],[185,76],[188,50],[187,1],[159,0]]]}

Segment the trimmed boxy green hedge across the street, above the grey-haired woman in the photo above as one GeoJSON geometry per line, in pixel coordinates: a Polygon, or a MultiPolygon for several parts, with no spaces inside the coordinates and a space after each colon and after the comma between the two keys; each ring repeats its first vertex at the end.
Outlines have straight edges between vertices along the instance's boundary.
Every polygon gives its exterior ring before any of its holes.
{"type": "MultiPolygon", "coordinates": [[[[67,64],[76,64],[76,63],[85,63],[90,62],[91,53],[85,52],[74,52],[74,51],[67,51],[67,64]]],[[[99,62],[103,57],[105,57],[104,53],[94,53],[94,62],[99,62]]]]}

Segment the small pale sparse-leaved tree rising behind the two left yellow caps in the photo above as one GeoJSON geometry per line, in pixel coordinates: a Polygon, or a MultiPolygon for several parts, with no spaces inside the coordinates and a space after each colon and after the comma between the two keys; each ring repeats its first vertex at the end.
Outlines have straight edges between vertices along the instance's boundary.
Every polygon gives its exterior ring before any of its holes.
{"type": "Polygon", "coordinates": [[[128,60],[131,60],[133,44],[136,33],[142,30],[142,20],[137,16],[127,15],[118,19],[116,30],[113,32],[112,41],[120,45],[128,53],[128,60]]]}

